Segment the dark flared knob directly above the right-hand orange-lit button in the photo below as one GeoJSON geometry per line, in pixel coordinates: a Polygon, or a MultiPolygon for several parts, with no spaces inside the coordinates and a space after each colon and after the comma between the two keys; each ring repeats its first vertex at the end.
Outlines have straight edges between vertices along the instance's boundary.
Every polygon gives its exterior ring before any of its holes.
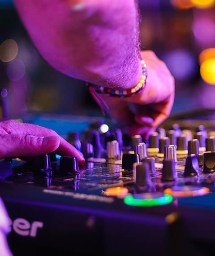
{"type": "Polygon", "coordinates": [[[198,156],[196,154],[190,154],[187,156],[184,175],[185,176],[199,175],[198,156]]]}

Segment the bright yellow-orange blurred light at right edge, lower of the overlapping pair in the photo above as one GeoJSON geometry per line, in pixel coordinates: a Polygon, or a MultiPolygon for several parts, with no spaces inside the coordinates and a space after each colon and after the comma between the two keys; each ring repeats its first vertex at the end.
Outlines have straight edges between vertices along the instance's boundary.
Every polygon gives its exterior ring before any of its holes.
{"type": "Polygon", "coordinates": [[[200,74],[207,84],[215,84],[215,58],[207,59],[202,62],[200,74]]]}

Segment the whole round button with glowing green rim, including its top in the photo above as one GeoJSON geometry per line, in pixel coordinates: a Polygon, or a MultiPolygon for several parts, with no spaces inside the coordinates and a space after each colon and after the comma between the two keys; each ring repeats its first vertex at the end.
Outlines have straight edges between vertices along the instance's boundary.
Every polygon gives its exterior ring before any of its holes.
{"type": "Polygon", "coordinates": [[[169,194],[133,194],[124,198],[124,203],[130,206],[159,206],[172,203],[172,196],[169,194]]]}

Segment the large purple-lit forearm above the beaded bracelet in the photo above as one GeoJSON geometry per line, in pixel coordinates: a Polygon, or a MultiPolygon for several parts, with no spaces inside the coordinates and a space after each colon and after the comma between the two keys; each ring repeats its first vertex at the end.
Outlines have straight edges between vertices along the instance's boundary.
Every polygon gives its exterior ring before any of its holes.
{"type": "Polygon", "coordinates": [[[42,56],[57,70],[110,88],[141,76],[133,0],[14,0],[42,56]]]}

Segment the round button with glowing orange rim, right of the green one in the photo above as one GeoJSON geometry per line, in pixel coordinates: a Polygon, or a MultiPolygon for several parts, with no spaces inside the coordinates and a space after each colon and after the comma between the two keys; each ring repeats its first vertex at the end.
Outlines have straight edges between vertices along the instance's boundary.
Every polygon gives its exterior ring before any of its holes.
{"type": "Polygon", "coordinates": [[[210,190],[206,187],[195,188],[189,186],[172,187],[172,189],[164,190],[165,194],[172,195],[173,197],[191,197],[191,196],[201,196],[208,194],[210,190]]]}

